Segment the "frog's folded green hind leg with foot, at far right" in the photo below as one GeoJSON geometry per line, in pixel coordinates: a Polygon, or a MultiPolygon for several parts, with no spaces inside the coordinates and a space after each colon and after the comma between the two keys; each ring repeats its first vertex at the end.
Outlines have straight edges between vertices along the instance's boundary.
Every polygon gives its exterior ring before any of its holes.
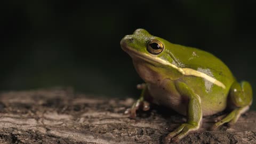
{"type": "Polygon", "coordinates": [[[213,130],[225,123],[229,125],[235,124],[241,114],[249,110],[252,104],[252,87],[250,83],[246,81],[241,82],[241,84],[234,82],[230,87],[229,98],[231,105],[234,105],[236,108],[221,121],[215,123],[212,126],[213,130]]]}

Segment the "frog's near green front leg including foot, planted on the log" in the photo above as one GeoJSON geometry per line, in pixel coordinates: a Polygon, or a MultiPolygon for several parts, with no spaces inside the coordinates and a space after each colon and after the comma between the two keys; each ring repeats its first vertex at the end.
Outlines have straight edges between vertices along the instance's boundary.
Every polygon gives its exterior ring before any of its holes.
{"type": "Polygon", "coordinates": [[[176,82],[175,86],[182,97],[186,97],[188,99],[187,123],[181,124],[177,129],[168,134],[165,138],[166,143],[170,142],[171,140],[179,141],[189,132],[198,130],[202,123],[200,97],[183,82],[176,82]]]}

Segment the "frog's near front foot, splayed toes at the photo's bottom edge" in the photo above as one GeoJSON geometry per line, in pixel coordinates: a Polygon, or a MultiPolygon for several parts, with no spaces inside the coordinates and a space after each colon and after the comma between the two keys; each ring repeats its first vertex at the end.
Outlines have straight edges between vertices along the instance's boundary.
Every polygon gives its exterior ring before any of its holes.
{"type": "Polygon", "coordinates": [[[185,137],[189,132],[193,132],[199,129],[199,125],[194,124],[182,124],[176,130],[169,133],[165,138],[165,143],[169,143],[170,141],[178,142],[183,137],[185,137]]]}

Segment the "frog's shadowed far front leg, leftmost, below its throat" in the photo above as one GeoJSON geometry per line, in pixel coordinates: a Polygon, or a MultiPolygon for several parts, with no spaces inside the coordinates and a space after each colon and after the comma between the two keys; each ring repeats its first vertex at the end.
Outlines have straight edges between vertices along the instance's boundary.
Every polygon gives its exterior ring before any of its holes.
{"type": "Polygon", "coordinates": [[[145,100],[146,97],[146,91],[147,91],[147,85],[145,83],[138,84],[137,89],[142,90],[140,94],[140,98],[133,103],[132,107],[127,109],[124,113],[129,114],[131,118],[136,117],[136,111],[142,107],[144,111],[149,110],[149,103],[145,100]]]}

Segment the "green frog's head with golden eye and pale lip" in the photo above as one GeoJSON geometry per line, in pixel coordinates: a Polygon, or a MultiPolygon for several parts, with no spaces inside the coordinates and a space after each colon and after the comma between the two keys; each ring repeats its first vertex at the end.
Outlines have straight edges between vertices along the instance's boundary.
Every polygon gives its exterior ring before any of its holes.
{"type": "Polygon", "coordinates": [[[122,49],[131,56],[142,78],[160,75],[178,78],[182,75],[181,69],[173,64],[169,50],[171,45],[163,38],[150,35],[145,29],[137,29],[132,35],[126,35],[121,40],[122,49]]]}

